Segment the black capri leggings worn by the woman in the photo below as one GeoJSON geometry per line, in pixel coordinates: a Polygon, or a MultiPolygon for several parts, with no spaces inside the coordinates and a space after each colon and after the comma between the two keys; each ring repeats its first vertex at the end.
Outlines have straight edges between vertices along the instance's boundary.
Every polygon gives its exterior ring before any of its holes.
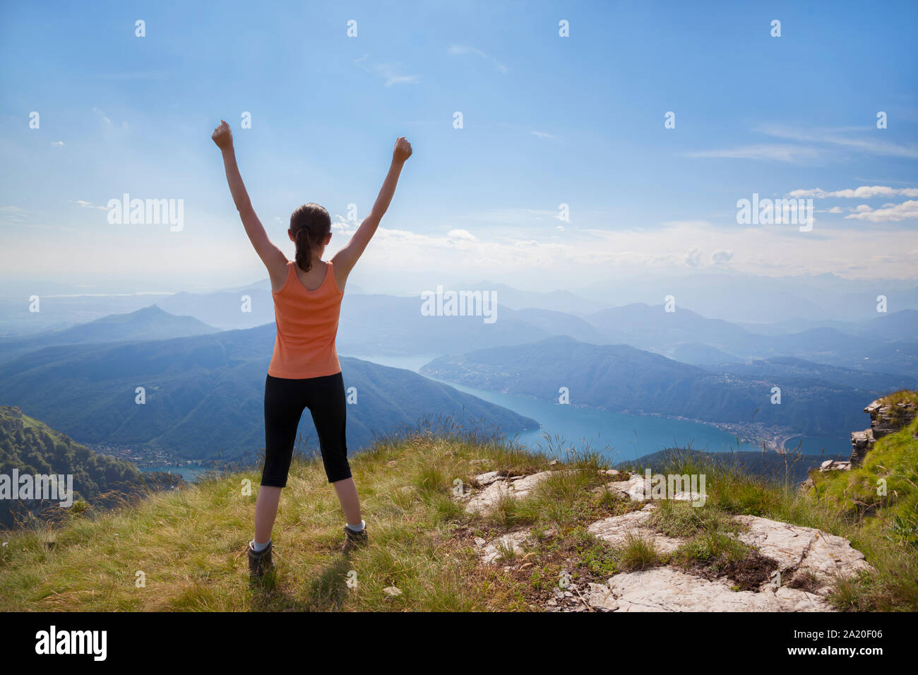
{"type": "Polygon", "coordinates": [[[285,488],[297,426],[303,409],[319,433],[322,464],[329,482],[351,478],[344,422],[347,402],[341,373],[307,379],[271,377],[264,381],[264,469],[262,485],[285,488]]]}

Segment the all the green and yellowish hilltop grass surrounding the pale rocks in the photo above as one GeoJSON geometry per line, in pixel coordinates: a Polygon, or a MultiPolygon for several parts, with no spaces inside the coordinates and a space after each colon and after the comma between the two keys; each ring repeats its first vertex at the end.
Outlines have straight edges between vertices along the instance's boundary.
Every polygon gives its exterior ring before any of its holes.
{"type": "MultiPolygon", "coordinates": [[[[84,512],[62,523],[0,534],[0,607],[14,611],[529,611],[541,609],[559,579],[581,585],[656,565],[707,568],[742,563],[753,552],[730,536],[731,519],[752,513],[819,527],[852,540],[876,572],[839,585],[839,609],[918,609],[918,550],[909,542],[914,509],[915,442],[890,436],[878,445],[894,501],[867,516],[839,501],[845,491],[826,478],[804,494],[788,481],[763,480],[726,465],[673,456],[660,473],[705,473],[707,502],[657,501],[650,524],[686,540],[661,556],[640,537],[615,548],[588,534],[589,523],[641,508],[601,489],[609,478],[594,453],[549,464],[519,447],[418,433],[385,441],[353,457],[370,545],[340,552],[340,507],[318,460],[294,462],[274,529],[276,568],[250,582],[245,544],[259,473],[212,477],[151,495],[114,512],[84,512]],[[892,465],[891,467],[889,465],[892,465]],[[914,464],[912,463],[912,468],[914,464]],[[488,515],[465,513],[453,498],[456,481],[474,484],[488,470],[520,476],[551,471],[520,501],[503,501],[488,515]],[[245,494],[243,481],[252,484],[245,494]],[[912,481],[911,489],[907,489],[912,481]],[[908,509],[912,509],[910,515],[908,509]],[[891,516],[886,514],[890,510],[891,516]],[[532,546],[503,551],[482,566],[475,538],[524,527],[532,546]],[[142,572],[146,585],[135,584],[142,572]],[[397,587],[396,597],[384,589],[397,587]]],[[[868,456],[871,462],[873,457],[868,456]]],[[[860,469],[858,469],[860,471],[860,469]]],[[[874,472],[874,473],[870,473],[874,472]]],[[[852,475],[856,485],[860,485],[852,475]]],[[[581,585],[582,588],[582,585],[581,585]]]]}

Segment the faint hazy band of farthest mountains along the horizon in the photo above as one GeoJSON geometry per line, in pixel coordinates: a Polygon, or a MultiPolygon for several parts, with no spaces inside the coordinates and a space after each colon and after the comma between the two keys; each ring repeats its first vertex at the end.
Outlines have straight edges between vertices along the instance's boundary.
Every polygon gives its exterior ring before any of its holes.
{"type": "MultiPolygon", "coordinates": [[[[619,304],[616,300],[625,296],[618,291],[602,298],[587,298],[569,291],[521,291],[485,281],[466,289],[496,293],[498,321],[486,324],[480,317],[423,316],[418,296],[364,294],[356,292],[359,290],[356,287],[349,287],[341,307],[339,351],[358,356],[434,356],[567,335],[594,344],[631,344],[696,365],[794,356],[856,370],[918,377],[918,338],[915,337],[918,335],[918,309],[901,309],[908,308],[910,303],[918,306],[918,291],[912,292],[914,288],[908,282],[854,282],[832,275],[776,280],[700,274],[690,277],[685,287],[666,278],[648,278],[647,283],[653,288],[670,287],[671,290],[676,286],[676,311],[666,312],[662,304],[657,304],[660,296],[650,293],[644,285],[633,287],[631,298],[656,295],[655,302],[619,304]],[[758,295],[744,295],[744,289],[750,287],[757,289],[758,295]],[[885,289],[889,295],[889,313],[876,311],[876,296],[872,298],[869,311],[862,306],[861,296],[874,293],[872,287],[885,289]],[[767,297],[768,289],[774,291],[774,298],[767,297]],[[796,289],[802,298],[820,298],[820,307],[829,301],[837,303],[844,302],[845,298],[861,298],[856,305],[859,309],[851,306],[842,319],[826,318],[825,311],[806,304],[799,309],[789,304],[783,313],[767,309],[767,302],[780,305],[781,294],[791,289],[796,289]],[[687,304],[687,300],[702,291],[710,292],[711,298],[717,299],[710,303],[711,313],[689,309],[692,305],[687,304]],[[916,302],[912,303],[912,299],[916,302]],[[729,310],[719,310],[722,306],[729,310]],[[748,308],[746,314],[739,311],[744,307],[748,308]],[[748,315],[758,321],[726,321],[718,318],[719,314],[748,315]],[[795,315],[804,318],[789,318],[795,315]],[[778,321],[762,322],[776,317],[778,321]]],[[[42,311],[35,314],[29,314],[23,309],[25,303],[18,301],[17,316],[25,311],[24,318],[12,322],[7,321],[7,312],[11,310],[7,301],[0,302],[0,319],[7,334],[11,332],[6,330],[10,325],[16,332],[27,319],[31,325],[40,327],[48,325],[55,316],[62,325],[73,327],[73,318],[91,315],[106,306],[106,302],[121,307],[129,301],[137,303],[143,298],[45,298],[42,311]]],[[[124,327],[125,332],[134,331],[134,335],[119,336],[115,332],[105,335],[100,330],[102,326],[92,324],[75,326],[73,333],[68,330],[32,332],[16,339],[0,340],[0,360],[50,344],[178,337],[218,329],[253,328],[274,320],[270,287],[264,280],[213,293],[158,297],[156,303],[156,307],[169,314],[189,318],[185,321],[194,318],[206,326],[181,326],[176,319],[168,332],[158,334],[135,320],[136,326],[124,327]],[[79,335],[79,332],[88,334],[79,335]]],[[[838,308],[833,306],[832,309],[838,308]]],[[[833,316],[838,313],[830,312],[833,316]]],[[[113,319],[106,317],[99,321],[113,319]]]]}

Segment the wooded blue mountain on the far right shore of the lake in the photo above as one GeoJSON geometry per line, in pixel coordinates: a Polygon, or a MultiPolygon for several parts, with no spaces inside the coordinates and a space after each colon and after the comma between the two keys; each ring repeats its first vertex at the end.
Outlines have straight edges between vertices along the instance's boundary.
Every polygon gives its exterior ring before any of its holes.
{"type": "Polygon", "coordinates": [[[820,366],[797,359],[747,368],[746,372],[702,368],[626,344],[596,345],[554,337],[441,356],[420,372],[468,387],[542,400],[559,400],[566,388],[570,404],[609,411],[702,422],[761,422],[834,436],[854,428],[863,401],[880,393],[879,388],[845,384],[837,374],[825,377],[820,366]],[[779,403],[771,402],[775,387],[780,389],[779,403]]]}

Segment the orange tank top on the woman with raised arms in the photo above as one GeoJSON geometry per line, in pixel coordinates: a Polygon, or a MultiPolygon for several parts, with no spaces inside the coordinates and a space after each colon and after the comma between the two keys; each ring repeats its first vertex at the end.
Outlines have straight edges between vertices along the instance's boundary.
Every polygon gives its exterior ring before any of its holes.
{"type": "Polygon", "coordinates": [[[288,379],[335,375],[341,372],[335,336],[344,293],[335,281],[331,262],[316,290],[303,286],[295,264],[287,262],[284,286],[271,294],[277,337],[268,375],[288,379]]]}

